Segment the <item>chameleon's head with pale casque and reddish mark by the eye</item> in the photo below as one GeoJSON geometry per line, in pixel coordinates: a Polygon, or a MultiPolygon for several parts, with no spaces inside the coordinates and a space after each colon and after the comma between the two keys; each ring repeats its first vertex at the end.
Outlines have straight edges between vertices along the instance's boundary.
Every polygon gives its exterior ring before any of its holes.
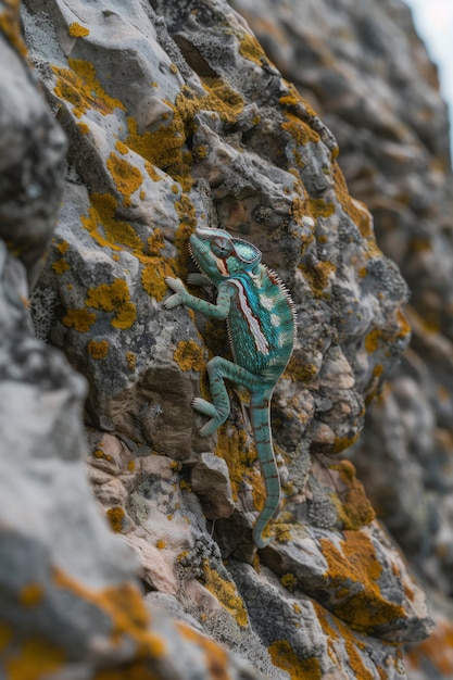
{"type": "Polygon", "coordinates": [[[261,262],[261,251],[242,239],[232,238],[223,229],[197,229],[189,239],[190,253],[200,269],[213,284],[236,272],[253,272],[261,262]]]}

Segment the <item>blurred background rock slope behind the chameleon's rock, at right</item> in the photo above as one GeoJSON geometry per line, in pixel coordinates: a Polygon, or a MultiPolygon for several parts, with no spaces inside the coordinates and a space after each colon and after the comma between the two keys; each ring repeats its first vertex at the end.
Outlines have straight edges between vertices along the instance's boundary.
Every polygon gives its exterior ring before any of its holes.
{"type": "Polygon", "coordinates": [[[400,0],[231,4],[335,134],[350,190],[411,288],[411,348],[353,459],[439,621],[410,676],[451,678],[453,193],[437,71],[400,0]]]}

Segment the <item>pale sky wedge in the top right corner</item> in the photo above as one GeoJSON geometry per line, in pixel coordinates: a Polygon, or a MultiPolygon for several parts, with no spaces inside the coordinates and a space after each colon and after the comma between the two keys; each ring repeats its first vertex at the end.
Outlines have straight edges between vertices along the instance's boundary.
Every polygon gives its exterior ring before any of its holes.
{"type": "MultiPolygon", "coordinates": [[[[440,87],[453,115],[453,0],[405,0],[412,9],[415,27],[439,67],[440,87]]],[[[453,130],[450,138],[453,139],[453,130]]],[[[453,147],[453,143],[452,143],[453,147]]]]}

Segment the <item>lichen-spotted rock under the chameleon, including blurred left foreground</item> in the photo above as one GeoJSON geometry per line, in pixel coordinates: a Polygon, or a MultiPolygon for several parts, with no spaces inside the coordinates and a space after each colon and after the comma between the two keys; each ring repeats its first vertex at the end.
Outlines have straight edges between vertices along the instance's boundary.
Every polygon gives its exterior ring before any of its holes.
{"type": "Polygon", "coordinates": [[[431,628],[425,596],[352,463],[331,456],[357,439],[365,401],[407,345],[407,288],[348,193],[332,134],[222,0],[25,1],[29,60],[68,140],[34,339],[26,272],[34,281],[53,226],[64,143],[21,51],[16,3],[0,8],[0,64],[17,68],[0,134],[21,142],[0,168],[12,204],[3,675],[28,664],[36,678],[84,680],[405,678],[402,645],[431,628]],[[207,358],[228,352],[225,328],[161,304],[164,277],[189,270],[197,225],[255,243],[298,310],[273,403],[285,500],[259,555],[264,488],[247,400],[231,390],[231,416],[207,440],[191,410],[207,358]]]}

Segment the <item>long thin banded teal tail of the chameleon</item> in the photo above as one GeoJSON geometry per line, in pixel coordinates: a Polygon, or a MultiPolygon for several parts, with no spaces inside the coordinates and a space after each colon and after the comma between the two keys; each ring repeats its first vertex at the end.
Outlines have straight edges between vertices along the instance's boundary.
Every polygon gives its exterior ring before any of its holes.
{"type": "Polygon", "coordinates": [[[270,539],[263,539],[263,531],[275,514],[280,502],[280,480],[275,462],[270,431],[270,396],[251,396],[250,417],[261,473],[266,487],[264,507],[253,527],[253,541],[257,547],[265,547],[270,539]]]}

